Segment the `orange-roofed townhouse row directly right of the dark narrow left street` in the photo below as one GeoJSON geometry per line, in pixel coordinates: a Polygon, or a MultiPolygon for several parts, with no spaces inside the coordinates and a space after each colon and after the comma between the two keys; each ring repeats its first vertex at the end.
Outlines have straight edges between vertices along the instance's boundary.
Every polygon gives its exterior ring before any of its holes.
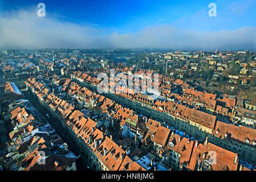
{"type": "MultiPolygon", "coordinates": [[[[31,85],[32,80],[35,79],[26,81],[30,90],[34,85],[39,84],[34,82],[31,85]]],[[[43,90],[43,88],[40,89],[43,90]]],[[[52,93],[47,93],[44,97],[39,98],[39,101],[45,109],[51,111],[54,119],[71,137],[81,151],[83,158],[88,160],[93,169],[106,171],[145,170],[129,158],[126,152],[112,140],[112,136],[108,137],[106,133],[97,129],[97,122],[76,110],[66,101],[60,100],[52,93]],[[62,102],[65,104],[62,105],[62,102]]]]}

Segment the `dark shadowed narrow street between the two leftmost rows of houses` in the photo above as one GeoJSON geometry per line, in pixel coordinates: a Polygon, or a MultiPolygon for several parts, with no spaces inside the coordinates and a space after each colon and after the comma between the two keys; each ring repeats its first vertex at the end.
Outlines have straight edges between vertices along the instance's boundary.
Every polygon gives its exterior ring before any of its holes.
{"type": "MultiPolygon", "coordinates": [[[[74,152],[74,154],[76,156],[79,156],[79,151],[78,151],[78,148],[76,148],[74,142],[71,141],[71,139],[68,137],[68,135],[66,135],[63,131],[63,127],[59,125],[58,122],[56,122],[54,119],[52,119],[51,117],[50,118],[47,118],[46,117],[46,114],[49,114],[47,113],[46,110],[42,109],[42,107],[40,107],[37,99],[35,98],[35,96],[29,94],[28,91],[24,91],[22,92],[23,96],[25,97],[26,100],[29,100],[30,103],[32,104],[32,106],[35,107],[36,110],[39,111],[40,114],[42,114],[42,116],[46,119],[46,121],[52,126],[54,127],[54,129],[56,130],[56,133],[60,136],[60,138],[63,139],[64,142],[67,143],[68,145],[68,148],[74,152]]],[[[42,118],[44,120],[44,118],[42,118]]],[[[76,167],[78,169],[78,171],[92,171],[91,168],[88,168],[87,167],[88,164],[87,164],[87,160],[83,159],[83,158],[79,158],[77,161],[76,161],[76,167]]]]}

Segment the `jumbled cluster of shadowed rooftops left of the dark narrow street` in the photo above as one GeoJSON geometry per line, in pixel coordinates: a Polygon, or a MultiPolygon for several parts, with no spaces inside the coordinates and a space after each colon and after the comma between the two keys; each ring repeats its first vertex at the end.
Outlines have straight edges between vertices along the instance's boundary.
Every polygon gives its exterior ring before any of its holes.
{"type": "Polygon", "coordinates": [[[76,171],[76,157],[55,129],[17,106],[5,118],[13,124],[5,167],[14,171],[76,171]]]}

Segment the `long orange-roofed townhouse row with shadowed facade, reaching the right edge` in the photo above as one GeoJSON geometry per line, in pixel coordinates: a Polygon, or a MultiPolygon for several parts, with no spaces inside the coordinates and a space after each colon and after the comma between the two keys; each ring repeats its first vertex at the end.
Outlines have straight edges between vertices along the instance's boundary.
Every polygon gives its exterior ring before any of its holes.
{"type": "MultiPolygon", "coordinates": [[[[71,75],[71,78],[77,80],[77,75],[71,75]]],[[[88,82],[86,78],[83,82],[80,81],[80,84],[95,92],[97,90],[97,85],[88,82]]],[[[218,121],[216,115],[208,114],[196,109],[190,109],[189,107],[175,102],[165,101],[160,105],[155,105],[155,101],[148,103],[147,100],[146,102],[145,100],[141,100],[140,93],[128,94],[127,96],[125,96],[125,94],[122,96],[116,93],[102,93],[102,95],[113,101],[119,102],[119,104],[124,105],[125,107],[129,107],[148,115],[150,118],[165,121],[177,130],[184,131],[197,139],[205,140],[208,137],[209,142],[236,152],[239,155],[239,159],[253,165],[256,164],[256,130],[254,129],[218,121]],[[164,107],[164,105],[166,105],[166,107],[164,107]],[[225,125],[225,128],[223,125],[225,125]],[[226,132],[226,134],[220,135],[222,132],[226,132]]],[[[205,97],[212,100],[216,99],[215,94],[206,93],[205,97]]],[[[220,100],[220,102],[224,101],[226,101],[225,103],[227,107],[233,107],[233,100],[228,98],[220,100]]],[[[223,110],[225,109],[223,108],[223,110]]],[[[230,115],[228,110],[226,115],[230,115]]]]}

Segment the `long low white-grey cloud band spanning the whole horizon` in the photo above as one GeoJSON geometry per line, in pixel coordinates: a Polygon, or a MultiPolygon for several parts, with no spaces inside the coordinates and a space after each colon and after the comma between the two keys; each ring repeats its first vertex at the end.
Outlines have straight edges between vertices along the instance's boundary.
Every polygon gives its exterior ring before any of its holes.
{"type": "Polygon", "coordinates": [[[136,33],[112,32],[103,28],[38,17],[36,9],[11,12],[0,18],[0,48],[170,48],[253,49],[256,27],[237,30],[192,31],[169,24],[151,26],[136,33]],[[1,33],[1,29],[0,29],[1,33]]]}

